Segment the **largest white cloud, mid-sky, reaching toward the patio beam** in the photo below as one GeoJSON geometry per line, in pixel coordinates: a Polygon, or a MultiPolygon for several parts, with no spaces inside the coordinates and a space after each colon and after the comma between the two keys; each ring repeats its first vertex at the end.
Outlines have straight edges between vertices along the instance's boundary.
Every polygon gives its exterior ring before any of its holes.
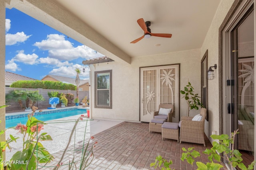
{"type": "Polygon", "coordinates": [[[39,49],[49,50],[48,57],[59,59],[60,61],[71,61],[79,57],[84,59],[91,59],[102,57],[100,53],[96,53],[93,49],[80,45],[73,47],[70,41],[65,40],[64,35],[50,34],[47,35],[46,40],[34,43],[39,49]]]}

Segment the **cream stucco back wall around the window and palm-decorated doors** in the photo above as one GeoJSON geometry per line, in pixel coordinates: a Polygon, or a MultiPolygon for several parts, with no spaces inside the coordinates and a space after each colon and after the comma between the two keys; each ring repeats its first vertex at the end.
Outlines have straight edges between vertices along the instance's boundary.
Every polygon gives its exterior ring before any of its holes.
{"type": "MultiPolygon", "coordinates": [[[[110,56],[109,56],[110,57],[110,56]]],[[[111,58],[111,57],[110,57],[111,58]]],[[[166,53],[132,58],[131,64],[126,63],[102,63],[90,65],[92,75],[94,71],[112,70],[112,109],[94,108],[94,96],[92,95],[91,115],[92,118],[120,119],[139,121],[139,93],[140,93],[140,67],[158,66],[180,63],[180,89],[188,83],[188,80],[200,94],[200,49],[166,53]]],[[[94,92],[94,77],[92,76],[92,92],[94,92]]],[[[186,101],[180,99],[180,116],[186,115],[186,101]]],[[[191,111],[195,115],[198,111],[191,111]]]]}

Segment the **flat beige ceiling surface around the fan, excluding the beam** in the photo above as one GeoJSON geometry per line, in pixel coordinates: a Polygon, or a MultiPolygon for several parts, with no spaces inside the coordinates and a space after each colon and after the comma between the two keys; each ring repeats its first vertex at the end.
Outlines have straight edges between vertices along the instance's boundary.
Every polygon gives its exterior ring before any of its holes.
{"type": "MultiPolygon", "coordinates": [[[[130,57],[201,48],[220,0],[55,0],[130,57]],[[150,37],[137,20],[151,21],[150,37]]],[[[86,44],[85,44],[86,45],[86,44]]]]}

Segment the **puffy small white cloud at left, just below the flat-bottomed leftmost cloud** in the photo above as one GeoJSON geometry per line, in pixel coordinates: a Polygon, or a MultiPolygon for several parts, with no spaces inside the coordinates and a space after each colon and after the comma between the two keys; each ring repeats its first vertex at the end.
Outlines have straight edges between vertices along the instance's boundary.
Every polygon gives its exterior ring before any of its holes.
{"type": "Polygon", "coordinates": [[[36,64],[38,63],[37,61],[38,55],[36,55],[35,53],[33,54],[24,54],[24,51],[21,50],[19,51],[19,53],[13,58],[14,61],[18,61],[24,64],[36,64]]]}

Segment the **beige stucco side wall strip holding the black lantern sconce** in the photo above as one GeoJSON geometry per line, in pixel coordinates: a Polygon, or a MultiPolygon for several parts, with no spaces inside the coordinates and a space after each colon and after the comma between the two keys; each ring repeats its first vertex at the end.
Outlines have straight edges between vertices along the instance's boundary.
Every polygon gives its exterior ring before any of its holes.
{"type": "MultiPolygon", "coordinates": [[[[209,122],[206,121],[204,132],[209,137],[212,135],[212,131],[219,133],[219,27],[222,24],[228,10],[232,6],[234,0],[222,0],[218,6],[212,24],[208,30],[208,33],[204,39],[202,45],[201,54],[204,54],[208,49],[208,67],[217,64],[217,69],[214,71],[215,79],[208,80],[208,111],[209,122]]],[[[202,57],[202,55],[201,55],[202,57]]],[[[210,139],[211,140],[211,139],[210,139]]]]}

